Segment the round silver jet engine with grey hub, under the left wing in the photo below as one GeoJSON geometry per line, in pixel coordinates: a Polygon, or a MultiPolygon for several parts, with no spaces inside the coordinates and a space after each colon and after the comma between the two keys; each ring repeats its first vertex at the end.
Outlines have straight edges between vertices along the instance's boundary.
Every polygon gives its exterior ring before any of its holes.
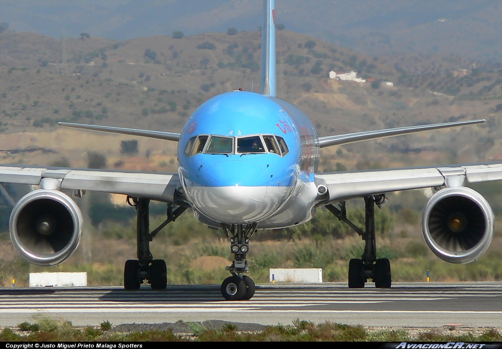
{"type": "Polygon", "coordinates": [[[58,190],[34,190],[23,196],[9,220],[14,248],[28,262],[50,267],[77,249],[82,234],[82,213],[58,190]]]}

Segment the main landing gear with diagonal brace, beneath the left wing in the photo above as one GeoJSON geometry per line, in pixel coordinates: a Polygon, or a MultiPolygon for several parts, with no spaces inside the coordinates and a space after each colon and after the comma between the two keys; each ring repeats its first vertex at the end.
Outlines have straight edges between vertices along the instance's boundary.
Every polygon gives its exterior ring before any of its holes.
{"type": "Polygon", "coordinates": [[[128,260],[124,265],[124,288],[138,290],[144,280],[147,280],[153,290],[164,290],[167,287],[167,267],[162,259],[153,259],[150,252],[150,242],[168,223],[174,221],[186,207],[168,205],[167,219],[157,229],[149,232],[150,221],[148,206],[150,199],[128,196],[127,202],[136,208],[136,236],[138,260],[128,260]]]}

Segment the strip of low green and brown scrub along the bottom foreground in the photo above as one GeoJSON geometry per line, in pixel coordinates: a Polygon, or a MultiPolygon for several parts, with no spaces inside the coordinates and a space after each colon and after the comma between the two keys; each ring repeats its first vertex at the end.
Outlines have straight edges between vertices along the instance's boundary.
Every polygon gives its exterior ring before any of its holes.
{"type": "Polygon", "coordinates": [[[175,333],[172,328],[120,333],[112,331],[109,321],[79,328],[63,318],[38,313],[33,316],[33,322],[19,324],[18,332],[4,328],[0,331],[0,341],[502,341],[502,333],[495,328],[479,334],[469,330],[459,333],[458,330],[423,329],[412,335],[407,329],[371,330],[360,325],[314,323],[298,318],[292,325],[270,325],[260,331],[239,331],[233,323],[224,323],[218,329],[207,329],[199,322],[187,322],[187,325],[189,333],[175,333]]]}

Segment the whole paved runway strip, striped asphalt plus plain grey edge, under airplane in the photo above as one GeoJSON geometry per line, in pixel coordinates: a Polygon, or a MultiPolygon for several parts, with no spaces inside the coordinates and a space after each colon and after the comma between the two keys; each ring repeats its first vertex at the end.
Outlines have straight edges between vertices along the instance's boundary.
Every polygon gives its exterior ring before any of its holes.
{"type": "Polygon", "coordinates": [[[381,327],[502,327],[502,282],[394,283],[349,289],[345,283],[259,284],[249,301],[225,301],[219,285],[0,288],[0,326],[46,312],[74,326],[103,321],[162,323],[224,320],[289,325],[295,319],[381,327]]]}

